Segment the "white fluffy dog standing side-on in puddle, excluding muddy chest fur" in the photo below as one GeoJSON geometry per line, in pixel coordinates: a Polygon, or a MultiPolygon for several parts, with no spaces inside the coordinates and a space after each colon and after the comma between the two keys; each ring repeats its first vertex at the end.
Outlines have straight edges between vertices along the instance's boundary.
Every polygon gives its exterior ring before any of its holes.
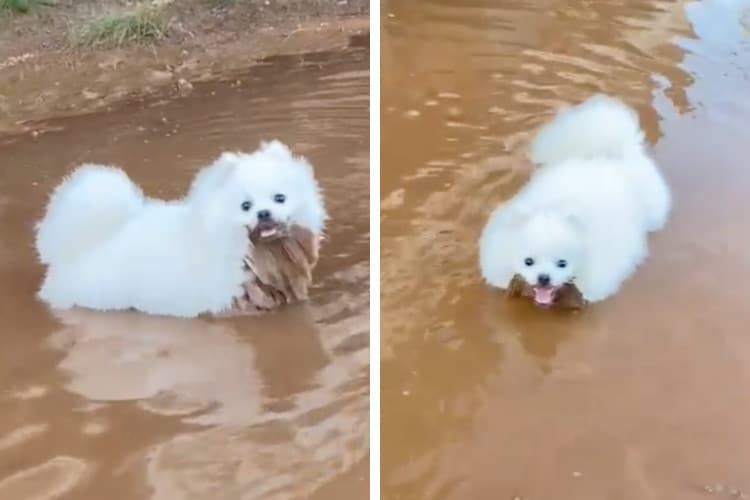
{"type": "Polygon", "coordinates": [[[325,218],[312,166],[278,141],[222,154],[174,201],[145,197],[120,169],[83,165],[37,224],[39,297],[60,309],[221,313],[252,280],[248,231],[273,237],[297,224],[320,234],[325,218]]]}

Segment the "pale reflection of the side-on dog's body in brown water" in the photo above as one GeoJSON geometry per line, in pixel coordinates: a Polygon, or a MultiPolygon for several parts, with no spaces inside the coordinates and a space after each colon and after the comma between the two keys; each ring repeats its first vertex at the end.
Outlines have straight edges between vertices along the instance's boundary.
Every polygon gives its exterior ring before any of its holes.
{"type": "MultiPolygon", "coordinates": [[[[136,401],[201,425],[261,413],[255,353],[230,325],[141,314],[57,313],[66,389],[92,402],[136,401]]],[[[315,352],[315,351],[314,351],[315,352]]]]}

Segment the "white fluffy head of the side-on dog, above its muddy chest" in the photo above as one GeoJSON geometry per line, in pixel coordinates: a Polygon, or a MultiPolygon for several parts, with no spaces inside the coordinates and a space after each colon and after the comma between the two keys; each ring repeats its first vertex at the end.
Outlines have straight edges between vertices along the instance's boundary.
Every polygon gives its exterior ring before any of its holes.
{"type": "Polygon", "coordinates": [[[325,211],[313,168],[279,141],[263,143],[253,153],[223,153],[201,175],[192,191],[208,192],[215,175],[222,204],[256,241],[285,236],[293,224],[315,234],[323,229],[325,211]]]}

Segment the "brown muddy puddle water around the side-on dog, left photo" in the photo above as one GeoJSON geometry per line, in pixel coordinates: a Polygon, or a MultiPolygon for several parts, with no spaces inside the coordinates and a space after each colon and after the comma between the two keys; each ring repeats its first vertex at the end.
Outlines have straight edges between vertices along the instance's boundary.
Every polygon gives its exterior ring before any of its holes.
{"type": "Polygon", "coordinates": [[[190,97],[2,140],[0,498],[365,498],[369,439],[369,55],[270,61],[190,97]],[[309,304],[183,321],[52,313],[32,224],[84,161],[175,196],[225,149],[280,138],[331,214],[309,304]]]}

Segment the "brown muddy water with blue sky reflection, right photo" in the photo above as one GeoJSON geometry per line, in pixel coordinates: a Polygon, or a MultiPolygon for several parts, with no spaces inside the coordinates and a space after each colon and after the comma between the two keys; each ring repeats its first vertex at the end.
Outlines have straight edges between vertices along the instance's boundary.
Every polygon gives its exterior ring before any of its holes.
{"type": "Polygon", "coordinates": [[[384,2],[384,499],[750,495],[746,8],[384,2]],[[530,132],[595,91],[639,110],[674,216],[606,303],[507,302],[481,228],[530,132]]]}

